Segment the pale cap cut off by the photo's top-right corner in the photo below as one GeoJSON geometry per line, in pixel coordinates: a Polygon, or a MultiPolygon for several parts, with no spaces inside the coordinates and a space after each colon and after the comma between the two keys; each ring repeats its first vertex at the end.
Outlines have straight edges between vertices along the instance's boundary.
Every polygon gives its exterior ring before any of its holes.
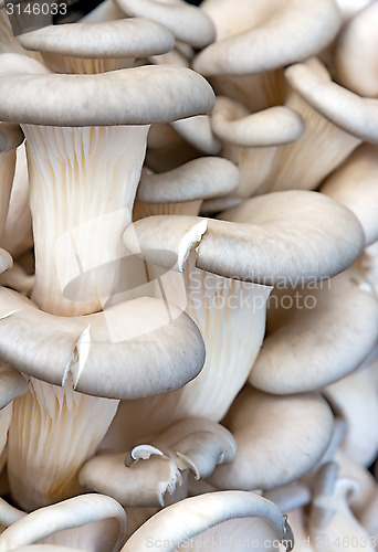
{"type": "Polygon", "coordinates": [[[371,2],[343,29],[335,47],[336,79],[361,96],[378,98],[378,3],[371,2]]]}

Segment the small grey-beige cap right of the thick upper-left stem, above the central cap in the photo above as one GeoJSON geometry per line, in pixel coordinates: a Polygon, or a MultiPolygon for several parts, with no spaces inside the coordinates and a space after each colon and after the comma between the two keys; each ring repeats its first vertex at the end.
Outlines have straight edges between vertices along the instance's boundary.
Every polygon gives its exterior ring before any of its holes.
{"type": "Polygon", "coordinates": [[[137,201],[175,203],[213,198],[234,191],[237,167],[221,157],[201,157],[160,174],[141,173],[137,201]]]}

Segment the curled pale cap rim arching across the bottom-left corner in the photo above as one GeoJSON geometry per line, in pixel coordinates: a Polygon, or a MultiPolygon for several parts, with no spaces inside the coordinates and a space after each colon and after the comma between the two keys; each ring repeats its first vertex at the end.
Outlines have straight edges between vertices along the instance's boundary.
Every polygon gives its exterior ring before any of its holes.
{"type": "Polygon", "coordinates": [[[108,518],[118,522],[118,539],[113,548],[116,552],[126,532],[126,513],[118,502],[104,495],[83,495],[33,511],[0,535],[0,551],[33,544],[57,531],[108,518]]]}

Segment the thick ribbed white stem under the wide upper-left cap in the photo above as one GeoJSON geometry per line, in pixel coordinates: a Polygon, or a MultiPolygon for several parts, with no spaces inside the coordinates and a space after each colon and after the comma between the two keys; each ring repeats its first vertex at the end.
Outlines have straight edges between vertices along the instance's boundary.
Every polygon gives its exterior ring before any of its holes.
{"type": "Polygon", "coordinates": [[[147,131],[24,126],[35,240],[32,298],[43,310],[88,314],[112,294],[120,269],[113,262],[125,253],[120,235],[132,219],[147,131]],[[94,277],[91,289],[78,282],[64,296],[66,284],[106,263],[113,265],[105,282],[94,277]]]}

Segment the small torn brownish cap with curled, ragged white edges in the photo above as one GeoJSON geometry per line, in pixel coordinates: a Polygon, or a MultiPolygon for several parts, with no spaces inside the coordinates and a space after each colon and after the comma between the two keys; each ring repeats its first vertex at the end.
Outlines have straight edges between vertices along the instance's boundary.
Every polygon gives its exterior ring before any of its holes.
{"type": "Polygon", "coordinates": [[[125,507],[165,506],[167,496],[182,485],[186,470],[203,479],[218,464],[230,463],[234,456],[230,432],[209,420],[188,417],[150,444],[134,447],[126,460],[125,453],[94,456],[82,468],[80,482],[125,507]]]}

